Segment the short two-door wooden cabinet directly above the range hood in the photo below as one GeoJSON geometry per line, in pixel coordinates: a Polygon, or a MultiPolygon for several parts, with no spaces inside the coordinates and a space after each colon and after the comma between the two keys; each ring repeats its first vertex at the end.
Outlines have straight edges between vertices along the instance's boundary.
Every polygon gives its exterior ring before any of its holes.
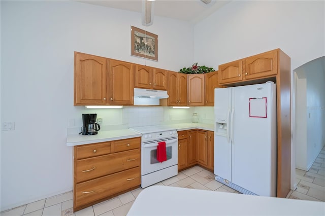
{"type": "Polygon", "coordinates": [[[136,64],[135,87],[167,91],[168,71],[164,69],[136,64]]]}

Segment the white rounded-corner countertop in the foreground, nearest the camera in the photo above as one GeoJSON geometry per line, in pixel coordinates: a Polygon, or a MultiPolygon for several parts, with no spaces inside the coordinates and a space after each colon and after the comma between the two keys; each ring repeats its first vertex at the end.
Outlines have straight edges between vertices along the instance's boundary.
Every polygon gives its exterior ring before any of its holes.
{"type": "Polygon", "coordinates": [[[151,186],[140,192],[127,215],[325,215],[325,203],[151,186]]]}

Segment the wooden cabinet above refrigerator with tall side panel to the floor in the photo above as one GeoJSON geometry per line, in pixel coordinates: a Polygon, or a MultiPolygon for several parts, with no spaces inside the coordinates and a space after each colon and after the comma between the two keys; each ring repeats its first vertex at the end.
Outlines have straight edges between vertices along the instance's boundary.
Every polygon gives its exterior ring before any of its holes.
{"type": "Polygon", "coordinates": [[[239,86],[266,81],[276,83],[277,94],[277,197],[290,191],[290,57],[275,49],[219,65],[219,84],[239,86]]]}

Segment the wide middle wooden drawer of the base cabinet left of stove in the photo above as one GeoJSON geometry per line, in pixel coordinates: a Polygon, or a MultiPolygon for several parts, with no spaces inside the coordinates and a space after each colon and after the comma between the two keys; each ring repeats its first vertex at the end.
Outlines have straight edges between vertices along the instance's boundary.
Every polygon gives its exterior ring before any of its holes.
{"type": "Polygon", "coordinates": [[[140,149],[78,160],[76,183],[140,166],[140,161],[140,149]]]}

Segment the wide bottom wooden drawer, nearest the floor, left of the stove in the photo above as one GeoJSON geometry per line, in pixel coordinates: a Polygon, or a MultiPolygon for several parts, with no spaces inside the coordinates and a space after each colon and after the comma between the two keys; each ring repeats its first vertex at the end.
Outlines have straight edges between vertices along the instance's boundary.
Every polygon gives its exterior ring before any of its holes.
{"type": "Polygon", "coordinates": [[[140,184],[140,167],[77,184],[76,207],[139,186],[140,184]]]}

